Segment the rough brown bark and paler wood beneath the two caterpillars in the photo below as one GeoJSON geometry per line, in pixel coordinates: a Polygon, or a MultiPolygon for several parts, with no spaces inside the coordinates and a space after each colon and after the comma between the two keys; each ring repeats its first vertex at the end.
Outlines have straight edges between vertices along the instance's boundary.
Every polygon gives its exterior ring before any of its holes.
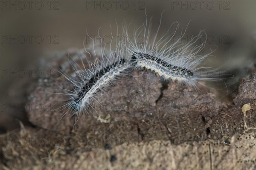
{"type": "MultiPolygon", "coordinates": [[[[79,63],[80,51],[69,55],[79,63]]],[[[71,75],[67,53],[57,65],[71,75]]],[[[96,98],[75,130],[74,116],[54,110],[67,100],[59,87],[72,89],[51,74],[29,88],[28,103],[40,103],[26,107],[35,127],[20,123],[19,132],[1,136],[3,169],[256,169],[256,73],[227,104],[204,87],[131,71],[96,98]]]]}

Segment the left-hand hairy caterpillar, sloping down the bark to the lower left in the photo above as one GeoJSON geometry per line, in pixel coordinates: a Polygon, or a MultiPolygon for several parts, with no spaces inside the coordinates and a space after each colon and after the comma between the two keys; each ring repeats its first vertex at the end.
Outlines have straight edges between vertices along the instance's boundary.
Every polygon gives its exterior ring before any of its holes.
{"type": "Polygon", "coordinates": [[[118,41],[112,49],[105,48],[102,44],[94,45],[93,41],[92,47],[84,49],[85,55],[90,59],[80,57],[81,66],[74,59],[70,61],[75,71],[71,76],[61,73],[73,84],[73,90],[64,89],[70,97],[61,110],[67,110],[64,115],[72,112],[76,116],[75,124],[80,113],[88,112],[93,102],[97,102],[95,96],[104,93],[103,89],[112,85],[123,74],[128,74],[131,68],[124,44],[118,41]]]}

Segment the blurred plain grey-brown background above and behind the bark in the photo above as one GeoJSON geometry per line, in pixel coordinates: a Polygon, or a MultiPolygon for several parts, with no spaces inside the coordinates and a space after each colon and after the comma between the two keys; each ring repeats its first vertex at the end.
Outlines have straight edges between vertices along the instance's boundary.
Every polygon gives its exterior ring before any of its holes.
{"type": "Polygon", "coordinates": [[[26,101],[24,84],[34,80],[29,76],[20,77],[18,71],[37,69],[44,57],[57,51],[83,48],[86,31],[95,35],[101,27],[101,34],[110,34],[109,24],[115,28],[117,22],[121,28],[124,20],[140,26],[145,22],[145,8],[148,17],[153,17],[153,22],[157,23],[153,29],[157,28],[160,14],[165,11],[161,28],[168,28],[175,21],[185,28],[191,20],[188,34],[206,30],[218,46],[214,55],[223,60],[231,58],[230,69],[249,68],[255,62],[254,0],[0,2],[1,133],[18,127],[16,118],[26,119],[23,111],[3,108],[6,103],[26,101]],[[9,75],[10,72],[16,73],[9,75]]]}

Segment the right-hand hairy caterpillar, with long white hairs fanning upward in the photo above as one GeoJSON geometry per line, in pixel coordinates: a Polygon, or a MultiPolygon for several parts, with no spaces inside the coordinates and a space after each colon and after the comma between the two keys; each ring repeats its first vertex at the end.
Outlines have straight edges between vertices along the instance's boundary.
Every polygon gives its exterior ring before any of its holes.
{"type": "MultiPolygon", "coordinates": [[[[147,15],[146,15],[147,16],[147,15]]],[[[163,78],[166,82],[179,81],[189,87],[199,90],[197,83],[204,81],[223,81],[218,73],[219,68],[201,66],[206,57],[211,56],[215,50],[201,55],[207,40],[202,40],[204,31],[191,36],[185,43],[181,43],[186,33],[181,30],[180,36],[174,40],[179,24],[173,23],[164,34],[159,35],[160,24],[156,33],[151,32],[151,20],[134,31],[133,37],[128,36],[128,27],[124,28],[128,37],[127,50],[135,68],[150,70],[163,78]],[[176,24],[175,31],[170,30],[176,24]],[[143,43],[141,43],[143,35],[143,43]]],[[[205,36],[207,37],[207,36],[205,36]]],[[[227,74],[225,74],[227,75],[227,74]]]]}

